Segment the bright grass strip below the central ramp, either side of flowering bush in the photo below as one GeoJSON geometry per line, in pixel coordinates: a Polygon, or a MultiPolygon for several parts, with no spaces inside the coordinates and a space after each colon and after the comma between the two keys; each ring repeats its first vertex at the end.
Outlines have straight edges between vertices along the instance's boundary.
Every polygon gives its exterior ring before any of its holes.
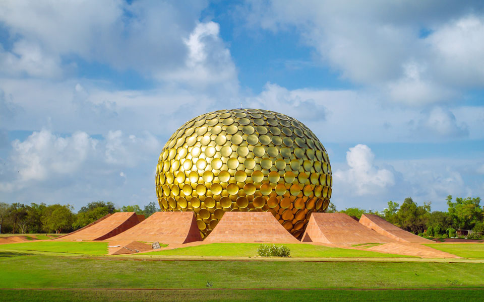
{"type": "MultiPolygon", "coordinates": [[[[360,251],[352,249],[329,248],[311,244],[284,244],[291,250],[290,256],[299,257],[376,257],[376,258],[395,258],[412,257],[395,254],[385,254],[371,251],[360,251]]],[[[257,243],[211,243],[186,248],[163,250],[144,253],[143,255],[166,255],[166,256],[225,256],[225,257],[254,257],[257,255],[257,243]]],[[[280,246],[280,245],[276,245],[280,246]]]]}

